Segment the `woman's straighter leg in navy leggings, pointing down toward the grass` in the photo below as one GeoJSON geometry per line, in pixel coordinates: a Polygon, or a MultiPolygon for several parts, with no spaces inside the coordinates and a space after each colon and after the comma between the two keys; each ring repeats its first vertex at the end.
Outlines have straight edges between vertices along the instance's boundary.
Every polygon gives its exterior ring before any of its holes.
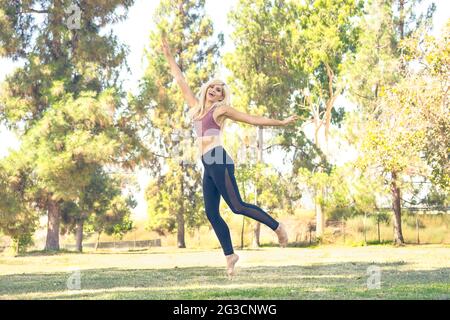
{"type": "Polygon", "coordinates": [[[216,188],[216,185],[207,172],[203,174],[203,199],[205,202],[206,216],[211,223],[220,245],[222,246],[225,255],[234,253],[233,245],[231,243],[230,229],[226,222],[222,219],[219,212],[220,205],[220,193],[216,188]]]}

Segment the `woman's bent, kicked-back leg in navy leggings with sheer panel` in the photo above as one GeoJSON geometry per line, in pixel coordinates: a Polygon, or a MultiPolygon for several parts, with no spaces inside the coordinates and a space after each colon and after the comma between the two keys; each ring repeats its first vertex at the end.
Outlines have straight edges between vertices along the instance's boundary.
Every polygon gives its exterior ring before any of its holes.
{"type": "Polygon", "coordinates": [[[255,219],[274,231],[278,228],[279,223],[267,212],[242,200],[234,176],[234,163],[214,164],[210,168],[210,175],[220,194],[234,213],[255,219]]]}

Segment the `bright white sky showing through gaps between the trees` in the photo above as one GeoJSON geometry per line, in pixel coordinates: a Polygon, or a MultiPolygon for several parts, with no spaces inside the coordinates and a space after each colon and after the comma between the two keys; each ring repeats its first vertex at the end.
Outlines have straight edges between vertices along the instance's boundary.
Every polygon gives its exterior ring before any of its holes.
{"type": "MultiPolygon", "coordinates": [[[[133,7],[130,8],[128,18],[112,28],[119,39],[129,46],[130,53],[127,60],[131,72],[124,74],[123,79],[125,80],[125,88],[131,92],[135,92],[137,83],[145,70],[145,61],[143,60],[144,48],[149,42],[149,33],[152,28],[154,28],[152,15],[158,3],[159,1],[155,0],[137,0],[133,7]]],[[[426,8],[428,3],[430,3],[429,0],[424,1],[422,7],[426,8]]],[[[445,21],[450,18],[450,1],[438,0],[434,1],[434,3],[437,5],[437,10],[434,15],[434,28],[432,33],[437,35],[440,33],[445,21]]],[[[222,48],[222,53],[233,50],[233,44],[230,39],[232,27],[227,22],[227,14],[236,6],[236,4],[237,0],[206,0],[206,13],[213,21],[216,33],[224,33],[225,44],[222,48]]],[[[8,59],[0,59],[0,81],[2,81],[8,73],[12,72],[16,66],[17,64],[12,63],[8,59]]],[[[222,69],[221,73],[226,73],[226,70],[222,69]]],[[[344,105],[349,109],[351,108],[351,104],[344,98],[338,99],[336,104],[344,105]]],[[[305,133],[308,136],[311,136],[311,128],[306,127],[305,133]]],[[[19,145],[15,135],[6,130],[4,126],[0,126],[0,142],[0,158],[8,154],[9,148],[17,148],[19,145]]],[[[335,151],[337,152],[338,150],[336,149],[335,151]]],[[[350,157],[352,157],[352,155],[349,150],[344,151],[344,156],[342,156],[342,154],[336,154],[336,159],[341,159],[340,161],[344,161],[343,159],[348,159],[350,157]]],[[[277,164],[281,163],[281,158],[277,158],[275,155],[271,159],[266,158],[266,161],[277,164]]],[[[145,170],[138,173],[138,180],[141,188],[144,189],[148,182],[148,175],[145,170]]],[[[145,218],[146,205],[143,198],[143,190],[136,195],[136,198],[138,200],[138,207],[135,209],[135,217],[139,219],[145,218]]]]}

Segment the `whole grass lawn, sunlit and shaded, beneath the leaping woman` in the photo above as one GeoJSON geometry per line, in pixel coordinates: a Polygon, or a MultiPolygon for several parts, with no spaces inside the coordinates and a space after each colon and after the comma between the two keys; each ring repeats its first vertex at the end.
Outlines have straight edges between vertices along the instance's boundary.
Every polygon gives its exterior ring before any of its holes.
{"type": "Polygon", "coordinates": [[[0,256],[0,299],[450,299],[448,245],[236,253],[232,280],[220,250],[0,256]],[[381,271],[379,289],[367,286],[373,265],[381,271]],[[69,290],[77,274],[80,289],[69,290]]]}

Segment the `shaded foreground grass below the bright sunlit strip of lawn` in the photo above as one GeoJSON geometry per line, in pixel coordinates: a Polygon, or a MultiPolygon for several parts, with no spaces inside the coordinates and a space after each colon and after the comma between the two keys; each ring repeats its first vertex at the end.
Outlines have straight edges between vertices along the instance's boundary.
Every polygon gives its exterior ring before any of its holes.
{"type": "Polygon", "coordinates": [[[380,289],[368,289],[371,263],[237,267],[228,280],[218,267],[86,269],[74,273],[0,276],[0,299],[448,299],[450,268],[399,270],[378,263],[380,289]],[[73,278],[72,278],[73,280],[73,278]]]}

